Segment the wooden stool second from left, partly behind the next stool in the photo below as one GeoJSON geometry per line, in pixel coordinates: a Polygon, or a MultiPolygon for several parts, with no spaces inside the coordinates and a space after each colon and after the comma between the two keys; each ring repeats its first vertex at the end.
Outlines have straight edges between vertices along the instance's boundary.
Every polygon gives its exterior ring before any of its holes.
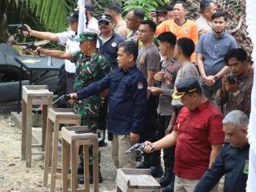
{"type": "MultiPolygon", "coordinates": [[[[49,108],[48,109],[48,118],[47,118],[47,127],[46,127],[46,157],[45,157],[45,166],[44,166],[45,169],[44,169],[44,177],[43,177],[43,186],[47,186],[48,173],[51,172],[50,191],[55,191],[57,170],[58,172],[62,172],[62,168],[57,168],[58,135],[59,135],[58,133],[59,133],[59,125],[61,123],[70,124],[70,125],[71,124],[80,125],[81,116],[74,114],[73,110],[70,108],[49,108]],[[53,124],[54,124],[54,133],[52,131],[53,124]],[[50,164],[51,164],[51,168],[50,168],[50,164]]],[[[58,176],[61,176],[61,175],[58,175],[58,176]]],[[[58,177],[58,178],[62,179],[62,177],[58,177]]]]}

